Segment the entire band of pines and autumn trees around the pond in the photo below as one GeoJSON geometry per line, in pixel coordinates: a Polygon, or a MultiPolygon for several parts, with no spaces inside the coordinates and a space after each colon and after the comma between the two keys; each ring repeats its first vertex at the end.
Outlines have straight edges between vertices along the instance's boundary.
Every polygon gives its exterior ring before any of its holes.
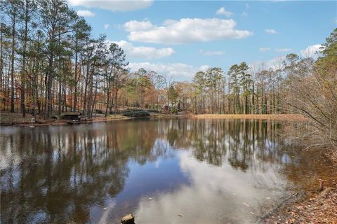
{"type": "MultiPolygon", "coordinates": [[[[300,113],[322,144],[336,146],[337,29],[317,54],[290,53],[272,66],[238,62],[198,71],[190,82],[139,68],[67,1],[1,1],[1,111],[46,120],[63,112],[147,109],[166,113],[300,113]],[[317,134],[319,133],[319,134],[317,134]]],[[[310,135],[310,134],[309,134],[310,135]]]]}

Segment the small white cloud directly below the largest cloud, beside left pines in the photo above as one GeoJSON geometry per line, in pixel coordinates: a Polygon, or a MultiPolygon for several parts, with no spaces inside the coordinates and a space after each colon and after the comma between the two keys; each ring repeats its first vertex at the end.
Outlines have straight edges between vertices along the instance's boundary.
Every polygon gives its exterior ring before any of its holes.
{"type": "Polygon", "coordinates": [[[145,46],[134,46],[128,41],[118,41],[117,43],[126,53],[127,57],[140,57],[145,59],[154,59],[161,57],[168,57],[173,55],[174,50],[172,48],[151,48],[145,46]]]}

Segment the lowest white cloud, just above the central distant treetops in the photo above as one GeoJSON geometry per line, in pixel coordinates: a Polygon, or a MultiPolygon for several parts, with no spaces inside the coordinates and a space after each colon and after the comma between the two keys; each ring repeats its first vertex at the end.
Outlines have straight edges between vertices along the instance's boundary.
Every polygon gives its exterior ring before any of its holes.
{"type": "Polygon", "coordinates": [[[128,65],[131,71],[138,71],[143,68],[147,71],[156,71],[161,75],[173,76],[174,80],[191,80],[197,71],[209,69],[208,65],[202,65],[199,68],[190,64],[183,63],[150,63],[150,62],[131,62],[128,65]]]}

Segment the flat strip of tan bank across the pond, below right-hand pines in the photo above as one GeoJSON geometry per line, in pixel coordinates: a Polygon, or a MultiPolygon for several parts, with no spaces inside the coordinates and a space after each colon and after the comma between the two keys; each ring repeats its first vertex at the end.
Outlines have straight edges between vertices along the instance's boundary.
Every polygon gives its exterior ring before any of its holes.
{"type": "Polygon", "coordinates": [[[262,119],[262,120],[292,120],[305,121],[307,118],[299,114],[197,114],[190,118],[198,119],[262,119]]]}

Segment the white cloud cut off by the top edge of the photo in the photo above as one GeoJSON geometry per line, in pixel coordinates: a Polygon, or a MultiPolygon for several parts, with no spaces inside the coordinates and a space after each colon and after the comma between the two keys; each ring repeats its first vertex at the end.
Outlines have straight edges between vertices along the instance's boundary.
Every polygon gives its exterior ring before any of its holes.
{"type": "Polygon", "coordinates": [[[112,11],[133,11],[150,7],[153,0],[68,0],[70,6],[103,8],[112,11]]]}

